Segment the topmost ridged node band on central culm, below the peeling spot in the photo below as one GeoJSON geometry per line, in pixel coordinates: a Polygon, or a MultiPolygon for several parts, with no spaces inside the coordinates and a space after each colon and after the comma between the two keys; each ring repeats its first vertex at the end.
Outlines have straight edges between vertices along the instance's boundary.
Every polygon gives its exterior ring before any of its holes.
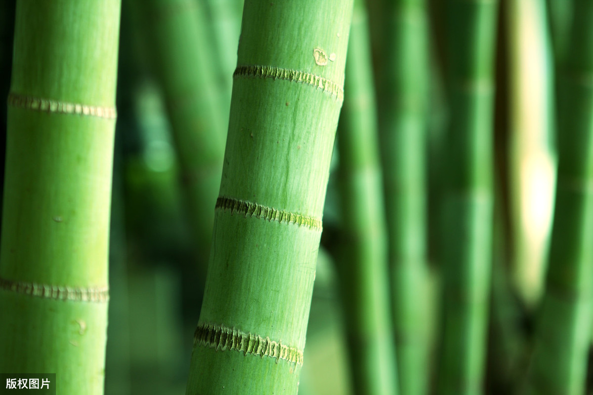
{"type": "Polygon", "coordinates": [[[315,86],[331,95],[334,95],[340,102],[344,99],[344,89],[336,82],[315,74],[299,70],[282,69],[275,66],[237,66],[233,78],[272,78],[282,79],[290,82],[315,86]]]}

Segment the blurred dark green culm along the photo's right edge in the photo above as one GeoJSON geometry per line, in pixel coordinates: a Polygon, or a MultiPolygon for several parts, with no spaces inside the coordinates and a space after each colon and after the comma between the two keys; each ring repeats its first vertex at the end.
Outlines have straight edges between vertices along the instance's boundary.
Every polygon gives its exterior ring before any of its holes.
{"type": "Polygon", "coordinates": [[[572,2],[556,66],[558,171],[546,294],[528,393],[585,392],[593,311],[593,3],[572,2]]]}

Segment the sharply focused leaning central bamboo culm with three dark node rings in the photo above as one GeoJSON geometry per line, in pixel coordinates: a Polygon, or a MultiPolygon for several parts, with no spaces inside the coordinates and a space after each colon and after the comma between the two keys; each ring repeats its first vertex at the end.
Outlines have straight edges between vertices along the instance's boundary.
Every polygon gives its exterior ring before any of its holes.
{"type": "Polygon", "coordinates": [[[187,394],[298,391],[352,0],[248,0],[187,394]]]}

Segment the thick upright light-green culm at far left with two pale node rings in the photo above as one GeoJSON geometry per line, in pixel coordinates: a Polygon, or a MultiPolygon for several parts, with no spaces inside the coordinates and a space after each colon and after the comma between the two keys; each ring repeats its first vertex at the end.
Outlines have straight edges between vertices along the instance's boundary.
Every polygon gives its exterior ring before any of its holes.
{"type": "Polygon", "coordinates": [[[19,0],[0,246],[0,371],[102,394],[120,0],[19,0]]]}

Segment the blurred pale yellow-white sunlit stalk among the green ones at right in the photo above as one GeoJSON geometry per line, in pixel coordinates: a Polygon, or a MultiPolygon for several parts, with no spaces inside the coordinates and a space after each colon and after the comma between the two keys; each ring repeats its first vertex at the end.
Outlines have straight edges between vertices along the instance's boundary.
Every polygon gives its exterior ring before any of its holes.
{"type": "Polygon", "coordinates": [[[522,300],[534,307],[543,292],[555,182],[553,54],[543,0],[503,5],[509,32],[511,271],[522,300]]]}

